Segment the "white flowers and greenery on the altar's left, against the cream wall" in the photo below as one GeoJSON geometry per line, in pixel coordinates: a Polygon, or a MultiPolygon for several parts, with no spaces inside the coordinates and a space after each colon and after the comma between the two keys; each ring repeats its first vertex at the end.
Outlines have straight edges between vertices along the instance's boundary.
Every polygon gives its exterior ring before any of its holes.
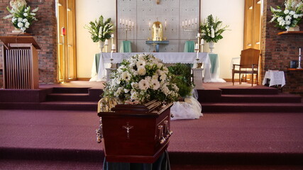
{"type": "Polygon", "coordinates": [[[89,26],[84,26],[91,33],[93,42],[104,42],[106,39],[111,38],[111,33],[114,32],[114,25],[111,23],[111,18],[107,18],[104,22],[104,17],[100,16],[99,19],[89,22],[89,26]]]}

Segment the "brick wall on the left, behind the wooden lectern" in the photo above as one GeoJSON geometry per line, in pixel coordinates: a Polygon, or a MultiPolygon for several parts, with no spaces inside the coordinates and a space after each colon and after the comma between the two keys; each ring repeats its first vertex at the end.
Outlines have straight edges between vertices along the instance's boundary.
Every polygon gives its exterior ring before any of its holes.
{"type": "MultiPolygon", "coordinates": [[[[7,36],[7,33],[11,33],[11,30],[14,29],[11,21],[3,18],[9,14],[6,11],[9,1],[0,1],[0,36],[7,36]]],[[[39,84],[57,83],[57,21],[55,17],[55,0],[26,0],[26,2],[32,9],[37,6],[39,7],[36,13],[38,21],[35,21],[31,28],[26,30],[26,32],[33,34],[38,45],[41,47],[41,50],[38,50],[39,84]]],[[[0,58],[1,67],[2,56],[0,58]]]]}

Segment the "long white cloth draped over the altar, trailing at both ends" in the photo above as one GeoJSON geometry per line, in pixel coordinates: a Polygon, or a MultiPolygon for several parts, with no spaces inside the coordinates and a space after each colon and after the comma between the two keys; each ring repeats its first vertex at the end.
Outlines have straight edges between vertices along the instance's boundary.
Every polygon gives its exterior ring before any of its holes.
{"type": "MultiPolygon", "coordinates": [[[[121,63],[123,59],[127,59],[133,55],[144,52],[114,52],[112,54],[113,63],[121,63]]],[[[146,54],[146,52],[145,52],[146,54]]],[[[197,59],[196,52],[150,52],[158,59],[166,64],[183,63],[193,64],[197,59]]],[[[198,52],[199,61],[203,63],[204,79],[203,82],[225,82],[224,79],[219,78],[219,59],[216,54],[209,54],[207,52],[198,52]]],[[[111,53],[102,52],[94,56],[92,64],[92,78],[89,81],[105,81],[106,67],[111,63],[111,53]]]]}

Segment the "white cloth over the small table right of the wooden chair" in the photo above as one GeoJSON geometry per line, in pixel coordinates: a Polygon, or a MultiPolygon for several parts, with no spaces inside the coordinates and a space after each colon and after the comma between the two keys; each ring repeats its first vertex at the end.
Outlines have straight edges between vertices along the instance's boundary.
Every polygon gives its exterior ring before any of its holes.
{"type": "Polygon", "coordinates": [[[285,76],[284,76],[284,72],[282,71],[265,72],[265,76],[262,84],[265,85],[268,79],[270,79],[270,86],[281,85],[282,87],[285,85],[285,76]]]}

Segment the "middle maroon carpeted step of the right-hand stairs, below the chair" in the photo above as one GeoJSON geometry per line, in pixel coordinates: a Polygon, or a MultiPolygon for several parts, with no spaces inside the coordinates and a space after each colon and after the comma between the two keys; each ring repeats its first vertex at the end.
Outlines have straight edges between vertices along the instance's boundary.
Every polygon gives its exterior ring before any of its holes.
{"type": "Polygon", "coordinates": [[[223,94],[220,101],[223,103],[301,103],[301,96],[291,94],[223,94]]]}

